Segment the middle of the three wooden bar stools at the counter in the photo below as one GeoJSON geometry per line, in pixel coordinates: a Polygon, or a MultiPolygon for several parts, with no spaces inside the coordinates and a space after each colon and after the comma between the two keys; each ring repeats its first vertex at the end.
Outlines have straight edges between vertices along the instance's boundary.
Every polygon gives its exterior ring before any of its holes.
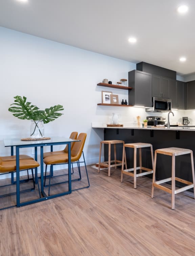
{"type": "Polygon", "coordinates": [[[122,162],[122,170],[121,170],[121,182],[123,182],[123,174],[127,174],[134,178],[134,189],[136,189],[136,178],[153,173],[153,170],[154,170],[154,158],[153,158],[152,144],[138,142],[138,143],[127,143],[127,144],[123,145],[123,162],[122,162]],[[133,168],[127,169],[127,167],[126,167],[126,170],[124,170],[123,163],[124,163],[124,156],[125,156],[125,148],[127,148],[127,147],[134,149],[134,164],[133,164],[133,168]],[[142,148],[144,148],[144,147],[150,147],[152,169],[142,166],[142,148]],[[139,149],[139,167],[137,167],[137,162],[136,162],[137,161],[137,149],[139,149]],[[140,170],[140,172],[137,173],[136,172],[137,170],[140,170]],[[146,172],[142,172],[142,170],[144,170],[146,172]],[[133,173],[131,173],[132,171],[133,171],[133,173]]]}

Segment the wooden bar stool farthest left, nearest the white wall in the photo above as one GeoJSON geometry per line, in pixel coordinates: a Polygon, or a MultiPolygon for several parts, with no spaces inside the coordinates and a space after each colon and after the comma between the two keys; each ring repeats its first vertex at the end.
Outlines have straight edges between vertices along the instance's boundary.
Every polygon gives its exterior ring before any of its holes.
{"type": "MultiPolygon", "coordinates": [[[[108,176],[110,177],[110,168],[111,167],[115,167],[116,166],[120,166],[122,165],[122,161],[121,160],[116,160],[116,144],[119,143],[123,143],[124,145],[124,141],[123,140],[103,140],[100,142],[100,155],[99,155],[99,163],[98,163],[98,173],[100,173],[100,166],[105,166],[108,168],[108,176]],[[101,153],[102,153],[102,144],[108,144],[108,161],[105,162],[101,162],[101,153]],[[110,160],[110,156],[111,156],[111,145],[114,145],[114,160],[110,160]],[[114,164],[111,164],[113,163],[114,164]]],[[[123,165],[124,165],[124,161],[123,161],[123,165]]],[[[127,168],[127,162],[126,162],[126,156],[125,156],[125,166],[127,168]]]]}

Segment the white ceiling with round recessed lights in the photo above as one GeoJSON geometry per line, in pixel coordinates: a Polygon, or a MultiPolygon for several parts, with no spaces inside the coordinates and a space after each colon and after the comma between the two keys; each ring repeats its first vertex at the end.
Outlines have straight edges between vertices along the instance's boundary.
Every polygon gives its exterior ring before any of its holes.
{"type": "Polygon", "coordinates": [[[0,0],[0,26],[178,75],[195,73],[194,0],[0,0]],[[181,4],[189,6],[186,15],[176,11],[181,4]]]}

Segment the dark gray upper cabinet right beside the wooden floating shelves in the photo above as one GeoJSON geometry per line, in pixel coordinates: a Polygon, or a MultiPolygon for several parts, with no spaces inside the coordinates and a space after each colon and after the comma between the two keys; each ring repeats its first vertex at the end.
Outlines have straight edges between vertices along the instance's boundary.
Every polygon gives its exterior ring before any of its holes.
{"type": "Polygon", "coordinates": [[[145,107],[152,106],[152,74],[132,70],[128,73],[129,105],[139,105],[145,107]]]}

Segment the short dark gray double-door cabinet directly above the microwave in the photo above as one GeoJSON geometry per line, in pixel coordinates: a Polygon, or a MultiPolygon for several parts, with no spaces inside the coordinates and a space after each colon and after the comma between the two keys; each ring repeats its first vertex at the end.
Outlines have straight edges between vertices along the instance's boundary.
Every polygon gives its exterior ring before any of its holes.
{"type": "Polygon", "coordinates": [[[152,74],[152,96],[170,98],[170,78],[152,74]]]}

